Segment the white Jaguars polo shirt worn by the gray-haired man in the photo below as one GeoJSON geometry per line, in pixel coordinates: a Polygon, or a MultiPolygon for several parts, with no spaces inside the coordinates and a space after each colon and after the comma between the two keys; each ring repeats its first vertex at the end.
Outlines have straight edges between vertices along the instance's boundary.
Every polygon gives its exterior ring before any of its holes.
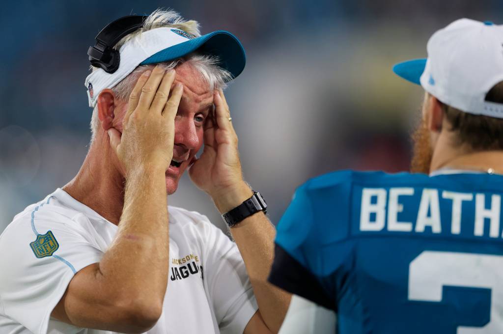
{"type": "MultiPolygon", "coordinates": [[[[242,333],[258,306],[236,244],[197,212],[168,211],[169,279],[162,315],[147,333],[242,333]]],[[[100,262],[117,229],[61,189],[16,215],[0,235],[0,333],[111,334],[50,314],[73,275],[100,262]]]]}

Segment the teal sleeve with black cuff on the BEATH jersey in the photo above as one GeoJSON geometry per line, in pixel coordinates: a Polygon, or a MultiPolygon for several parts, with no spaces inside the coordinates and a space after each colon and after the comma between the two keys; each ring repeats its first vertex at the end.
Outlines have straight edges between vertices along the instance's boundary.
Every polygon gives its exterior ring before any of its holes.
{"type": "Polygon", "coordinates": [[[334,309],[325,288],[313,273],[321,261],[308,184],[297,189],[277,226],[274,262],[269,282],[290,293],[334,309]]]}

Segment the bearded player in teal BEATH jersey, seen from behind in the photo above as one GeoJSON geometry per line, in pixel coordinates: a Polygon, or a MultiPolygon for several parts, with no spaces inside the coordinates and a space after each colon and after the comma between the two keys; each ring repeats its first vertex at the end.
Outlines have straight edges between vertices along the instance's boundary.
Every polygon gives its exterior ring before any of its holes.
{"type": "Polygon", "coordinates": [[[297,189],[269,280],[280,332],[503,328],[503,26],[462,19],[394,71],[426,91],[412,172],[336,172],[297,189]],[[422,174],[425,173],[425,174],[422,174]]]}

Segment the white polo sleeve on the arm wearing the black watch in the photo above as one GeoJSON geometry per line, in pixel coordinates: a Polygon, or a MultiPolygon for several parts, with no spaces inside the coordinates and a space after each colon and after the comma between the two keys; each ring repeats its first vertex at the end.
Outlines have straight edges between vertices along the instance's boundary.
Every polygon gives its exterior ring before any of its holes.
{"type": "Polygon", "coordinates": [[[257,300],[237,245],[208,224],[203,274],[210,303],[222,334],[242,333],[257,312],[257,300]]]}

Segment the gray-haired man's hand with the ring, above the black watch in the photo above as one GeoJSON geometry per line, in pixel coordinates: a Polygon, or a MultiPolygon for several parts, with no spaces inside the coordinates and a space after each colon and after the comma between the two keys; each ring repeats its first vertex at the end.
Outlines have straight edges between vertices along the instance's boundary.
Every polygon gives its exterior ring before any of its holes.
{"type": "Polygon", "coordinates": [[[189,170],[194,184],[213,198],[236,187],[245,187],[237,149],[237,135],[221,90],[213,96],[215,112],[204,129],[204,150],[189,170]]]}

